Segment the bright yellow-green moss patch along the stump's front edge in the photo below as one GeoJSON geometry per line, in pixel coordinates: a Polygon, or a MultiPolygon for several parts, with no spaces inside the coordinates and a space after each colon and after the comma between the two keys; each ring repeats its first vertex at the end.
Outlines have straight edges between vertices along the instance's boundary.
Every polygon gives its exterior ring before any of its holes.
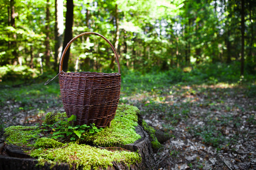
{"type": "Polygon", "coordinates": [[[45,162],[55,164],[57,162],[68,163],[71,167],[76,164],[76,168],[83,169],[112,167],[112,162],[122,162],[127,166],[135,162],[141,162],[141,157],[137,152],[129,151],[108,151],[89,145],[78,145],[75,142],[69,143],[67,147],[55,150],[42,150],[41,148],[31,151],[30,156],[38,157],[39,164],[45,162]]]}

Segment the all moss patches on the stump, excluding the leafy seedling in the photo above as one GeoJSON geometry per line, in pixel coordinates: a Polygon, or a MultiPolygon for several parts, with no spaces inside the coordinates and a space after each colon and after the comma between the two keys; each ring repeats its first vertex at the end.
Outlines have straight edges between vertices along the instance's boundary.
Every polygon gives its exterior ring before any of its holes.
{"type": "MultiPolygon", "coordinates": [[[[52,118],[51,114],[48,113],[46,115],[46,121],[44,123],[49,122],[53,124],[56,121],[63,120],[65,116],[65,113],[60,113],[57,114],[59,118],[52,118]]],[[[110,127],[106,127],[99,133],[93,135],[82,134],[84,137],[81,137],[80,142],[92,142],[94,145],[101,147],[134,143],[137,139],[141,138],[135,132],[135,126],[138,126],[138,114],[139,109],[136,107],[119,105],[110,127]]],[[[7,139],[14,145],[26,146],[29,144],[34,147],[34,150],[28,151],[27,153],[32,157],[38,158],[40,165],[44,165],[46,162],[51,164],[51,166],[56,163],[68,163],[70,166],[76,164],[76,168],[91,169],[93,167],[97,169],[99,167],[112,167],[113,162],[121,162],[127,166],[135,162],[141,162],[138,152],[109,151],[85,144],[79,145],[75,142],[70,142],[67,145],[67,143],[57,142],[55,139],[39,138],[39,134],[43,130],[35,130],[35,128],[11,126],[5,129],[5,134],[8,135],[7,139]],[[36,142],[28,143],[27,140],[31,138],[36,138],[36,142]]]]}

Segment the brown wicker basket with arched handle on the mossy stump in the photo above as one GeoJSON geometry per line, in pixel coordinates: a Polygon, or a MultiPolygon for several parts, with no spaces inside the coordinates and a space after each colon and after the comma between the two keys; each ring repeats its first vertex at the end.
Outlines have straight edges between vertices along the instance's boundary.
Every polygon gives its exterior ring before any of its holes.
{"type": "Polygon", "coordinates": [[[104,128],[115,116],[120,90],[121,74],[117,52],[104,36],[95,32],[84,32],[74,37],[65,47],[59,67],[60,94],[67,116],[76,115],[76,125],[95,124],[104,128]],[[73,41],[83,35],[97,35],[110,44],[118,64],[118,73],[65,73],[63,58],[73,41]]]}

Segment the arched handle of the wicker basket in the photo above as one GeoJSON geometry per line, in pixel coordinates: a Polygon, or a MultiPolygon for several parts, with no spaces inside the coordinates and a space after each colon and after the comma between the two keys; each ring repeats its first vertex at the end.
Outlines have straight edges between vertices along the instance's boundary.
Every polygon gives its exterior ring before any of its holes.
{"type": "Polygon", "coordinates": [[[102,37],[102,39],[104,39],[106,42],[109,43],[109,45],[111,46],[114,54],[115,54],[115,58],[117,58],[117,65],[118,65],[118,73],[120,74],[120,64],[119,64],[119,59],[118,59],[118,56],[117,56],[117,52],[114,48],[114,46],[111,44],[111,42],[106,39],[104,36],[100,35],[99,33],[96,33],[96,32],[84,32],[84,33],[81,33],[80,35],[77,35],[76,37],[74,37],[72,40],[70,40],[67,44],[67,46],[65,47],[65,49],[63,50],[63,53],[61,54],[61,57],[60,57],[60,67],[59,67],[59,73],[61,73],[62,70],[62,66],[63,66],[63,59],[64,59],[64,56],[65,56],[65,53],[67,52],[69,46],[71,45],[71,43],[73,41],[75,41],[76,39],[78,39],[79,37],[83,36],[83,35],[89,35],[89,34],[93,34],[93,35],[97,35],[97,36],[100,36],[102,37]]]}

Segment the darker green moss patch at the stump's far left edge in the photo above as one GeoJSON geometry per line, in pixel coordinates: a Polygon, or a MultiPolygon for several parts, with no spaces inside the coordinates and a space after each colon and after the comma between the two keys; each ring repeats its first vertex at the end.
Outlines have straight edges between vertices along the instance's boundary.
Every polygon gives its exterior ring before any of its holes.
{"type": "Polygon", "coordinates": [[[39,138],[41,129],[34,126],[10,126],[5,129],[6,140],[16,146],[31,146],[31,138],[39,138]]]}

